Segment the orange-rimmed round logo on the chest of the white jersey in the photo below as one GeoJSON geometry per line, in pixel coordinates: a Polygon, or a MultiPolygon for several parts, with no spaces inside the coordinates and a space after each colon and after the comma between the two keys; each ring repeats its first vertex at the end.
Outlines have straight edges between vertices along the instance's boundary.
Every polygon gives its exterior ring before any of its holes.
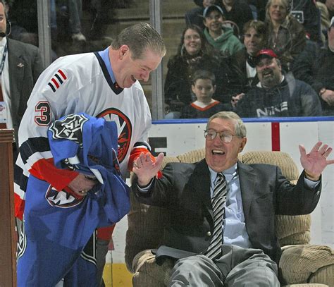
{"type": "Polygon", "coordinates": [[[110,108],[102,111],[97,118],[104,118],[106,121],[114,121],[118,130],[118,161],[121,163],[125,159],[130,147],[132,137],[132,125],[128,116],[122,111],[110,108]]]}

